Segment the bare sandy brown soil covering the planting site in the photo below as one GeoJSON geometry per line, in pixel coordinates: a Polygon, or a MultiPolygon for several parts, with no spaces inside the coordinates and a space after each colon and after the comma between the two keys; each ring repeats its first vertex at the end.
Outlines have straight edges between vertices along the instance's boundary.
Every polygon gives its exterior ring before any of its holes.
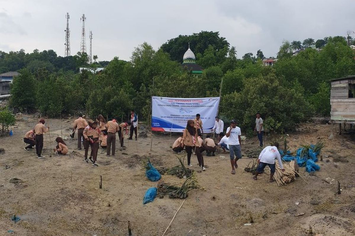
{"type": "MultiPolygon", "coordinates": [[[[47,122],[52,146],[61,132],[69,136],[72,121],[47,122]]],[[[44,139],[45,159],[37,159],[34,150],[23,150],[23,135],[36,123],[34,116],[18,116],[14,135],[0,138],[0,148],[5,148],[0,154],[0,235],[128,235],[128,220],[133,235],[163,234],[182,200],[164,197],[142,205],[145,191],[157,183],[144,176],[141,160],[150,157],[155,167],[178,165],[169,148],[176,136],[171,140],[169,134],[154,137],[153,151],[150,137],[137,142],[126,140],[127,149],[118,150],[115,157],[106,157],[99,149],[99,167],[94,167],[83,161],[83,151],[76,150],[76,139],[66,140],[70,155],[62,157],[49,157],[48,134],[44,139]],[[5,165],[10,168],[5,169],[5,165]],[[103,189],[99,189],[100,175],[103,189]],[[10,183],[11,178],[20,178],[22,183],[10,183]],[[13,214],[21,218],[18,223],[10,220],[13,214]],[[9,234],[7,230],[14,232],[9,234]]],[[[269,171],[255,181],[244,172],[250,162],[246,156],[238,161],[236,175],[231,175],[229,155],[205,156],[207,171],[197,173],[205,190],[190,192],[166,235],[298,236],[306,235],[309,226],[324,236],[355,235],[354,139],[334,134],[335,138],[328,140],[330,132],[329,125],[306,124],[299,132],[289,134],[291,151],[301,144],[315,143],[317,138],[327,143],[321,152],[323,161],[318,162],[320,171],[308,174],[300,168],[309,185],[297,179],[278,187],[268,182],[269,171]],[[327,177],[339,180],[340,195],[335,194],[336,184],[324,181],[327,177]],[[295,216],[300,213],[304,215],[295,216]],[[250,214],[254,223],[243,226],[249,223],[250,214]]],[[[282,143],[282,138],[278,140],[282,143]]],[[[247,139],[242,151],[256,145],[256,138],[247,139]]],[[[196,156],[192,160],[196,166],[196,156]]],[[[182,181],[167,175],[162,180],[171,184],[182,181]]]]}

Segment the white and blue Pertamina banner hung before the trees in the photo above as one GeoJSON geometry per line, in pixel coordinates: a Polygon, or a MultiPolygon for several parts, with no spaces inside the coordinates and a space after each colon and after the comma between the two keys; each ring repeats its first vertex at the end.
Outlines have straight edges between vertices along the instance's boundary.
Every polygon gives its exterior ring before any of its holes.
{"type": "Polygon", "coordinates": [[[214,126],[219,97],[213,98],[165,98],[152,97],[152,131],[183,132],[187,120],[201,115],[203,132],[214,126]]]}

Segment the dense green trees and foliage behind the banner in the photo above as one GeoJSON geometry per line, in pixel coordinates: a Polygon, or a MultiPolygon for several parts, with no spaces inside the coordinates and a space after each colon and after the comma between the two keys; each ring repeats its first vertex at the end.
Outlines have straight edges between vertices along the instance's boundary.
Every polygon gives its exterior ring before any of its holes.
{"type": "Polygon", "coordinates": [[[24,68],[11,86],[11,105],[23,111],[37,108],[44,114],[59,115],[80,110],[90,116],[125,120],[134,108],[148,121],[151,96],[221,94],[219,113],[224,119],[236,118],[242,128],[251,130],[255,113],[260,112],[267,119],[267,128],[275,131],[294,129],[311,116],[329,116],[329,80],[355,74],[354,51],[340,36],[285,41],[272,67],[263,65],[261,50],[254,54],[238,59],[236,48],[218,32],[202,31],[170,39],[158,50],[143,43],[132,52],[130,62],[115,57],[100,64],[105,70],[98,74],[76,72],[81,65],[98,66],[88,65],[86,54],[63,58],[52,50],[5,56],[1,52],[0,70],[24,68]],[[192,75],[181,67],[189,42],[196,62],[204,69],[202,75],[192,75]],[[310,47],[314,44],[317,49],[310,47]]]}

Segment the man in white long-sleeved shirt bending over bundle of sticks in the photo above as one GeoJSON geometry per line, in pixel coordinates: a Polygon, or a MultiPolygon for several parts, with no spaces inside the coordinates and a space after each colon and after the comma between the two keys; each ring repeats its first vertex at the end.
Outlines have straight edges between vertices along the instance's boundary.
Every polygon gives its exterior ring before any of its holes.
{"type": "Polygon", "coordinates": [[[278,151],[279,148],[279,143],[275,142],[274,146],[267,146],[264,148],[258,159],[259,166],[256,169],[255,176],[253,179],[257,180],[258,174],[264,171],[264,168],[266,166],[270,167],[270,182],[274,182],[275,180],[273,179],[274,174],[275,174],[275,159],[277,158],[277,161],[279,162],[279,166],[282,169],[282,171],[285,171],[282,161],[281,161],[281,156],[280,152],[278,151]]]}

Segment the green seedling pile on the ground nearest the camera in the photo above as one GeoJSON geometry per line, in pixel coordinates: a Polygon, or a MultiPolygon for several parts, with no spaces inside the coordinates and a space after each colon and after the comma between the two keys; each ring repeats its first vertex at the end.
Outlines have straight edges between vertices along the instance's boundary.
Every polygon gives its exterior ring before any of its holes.
{"type": "Polygon", "coordinates": [[[195,177],[191,176],[179,187],[178,185],[170,185],[168,183],[160,183],[158,185],[158,196],[169,196],[171,198],[186,198],[187,193],[192,189],[203,189],[198,185],[195,177]]]}

